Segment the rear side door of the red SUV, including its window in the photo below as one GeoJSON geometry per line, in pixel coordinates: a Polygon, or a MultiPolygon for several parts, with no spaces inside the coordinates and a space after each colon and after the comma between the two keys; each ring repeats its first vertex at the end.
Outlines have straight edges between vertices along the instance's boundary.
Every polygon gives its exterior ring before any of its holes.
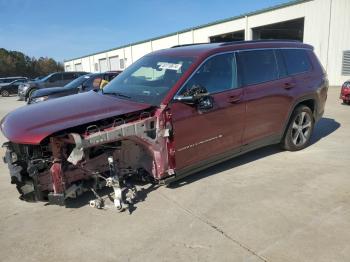
{"type": "Polygon", "coordinates": [[[238,72],[246,103],[243,144],[276,140],[293,102],[295,81],[287,75],[279,50],[238,52],[238,72]]]}

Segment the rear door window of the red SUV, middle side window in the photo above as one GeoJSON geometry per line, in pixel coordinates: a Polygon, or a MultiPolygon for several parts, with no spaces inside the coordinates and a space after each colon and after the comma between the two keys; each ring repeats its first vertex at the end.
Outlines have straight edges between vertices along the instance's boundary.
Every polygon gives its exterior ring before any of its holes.
{"type": "Polygon", "coordinates": [[[238,53],[242,84],[255,85],[278,79],[274,50],[254,50],[238,53]]]}

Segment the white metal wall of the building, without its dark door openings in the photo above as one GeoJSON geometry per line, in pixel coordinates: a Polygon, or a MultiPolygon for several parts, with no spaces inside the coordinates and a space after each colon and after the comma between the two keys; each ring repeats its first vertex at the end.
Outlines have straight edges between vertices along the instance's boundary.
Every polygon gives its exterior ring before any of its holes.
{"type": "Polygon", "coordinates": [[[113,56],[118,56],[125,66],[129,66],[155,50],[178,44],[209,42],[211,36],[239,30],[245,30],[245,39],[251,40],[252,29],[255,27],[304,17],[304,42],[315,47],[316,54],[329,74],[330,83],[340,85],[349,77],[342,76],[341,73],[343,51],[350,50],[349,13],[350,0],[306,1],[66,61],[65,68],[73,70],[75,64],[81,63],[83,70],[95,72],[95,64],[98,64],[99,59],[113,56]]]}

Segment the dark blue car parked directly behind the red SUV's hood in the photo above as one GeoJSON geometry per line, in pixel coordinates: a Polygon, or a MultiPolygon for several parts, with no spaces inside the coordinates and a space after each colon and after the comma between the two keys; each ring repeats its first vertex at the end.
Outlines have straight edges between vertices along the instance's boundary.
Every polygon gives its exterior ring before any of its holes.
{"type": "Polygon", "coordinates": [[[63,87],[51,87],[36,90],[28,99],[28,104],[43,102],[62,96],[74,95],[79,92],[98,90],[101,88],[101,82],[110,82],[120,72],[105,72],[97,74],[86,74],[78,77],[63,87]]]}

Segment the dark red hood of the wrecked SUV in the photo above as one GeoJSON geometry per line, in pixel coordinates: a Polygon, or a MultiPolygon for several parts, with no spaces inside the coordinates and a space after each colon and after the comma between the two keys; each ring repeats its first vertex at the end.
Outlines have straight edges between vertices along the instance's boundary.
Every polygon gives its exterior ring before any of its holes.
{"type": "Polygon", "coordinates": [[[13,143],[36,145],[58,131],[150,107],[91,91],[21,107],[5,116],[1,131],[13,143]]]}

